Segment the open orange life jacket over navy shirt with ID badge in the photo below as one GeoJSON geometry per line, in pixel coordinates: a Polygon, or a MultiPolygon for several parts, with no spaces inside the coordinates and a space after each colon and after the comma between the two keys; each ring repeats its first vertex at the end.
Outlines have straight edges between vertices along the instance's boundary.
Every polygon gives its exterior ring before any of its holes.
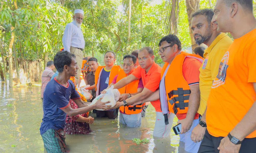
{"type": "MultiPolygon", "coordinates": [[[[98,66],[97,70],[95,71],[95,91],[96,91],[96,96],[99,96],[99,87],[100,87],[100,75],[103,70],[103,68],[106,66],[98,66]],[[98,89],[98,91],[97,91],[98,89]]],[[[114,65],[110,71],[109,75],[109,85],[112,83],[114,80],[115,76],[118,74],[120,71],[121,67],[119,65],[114,65]]]]}

